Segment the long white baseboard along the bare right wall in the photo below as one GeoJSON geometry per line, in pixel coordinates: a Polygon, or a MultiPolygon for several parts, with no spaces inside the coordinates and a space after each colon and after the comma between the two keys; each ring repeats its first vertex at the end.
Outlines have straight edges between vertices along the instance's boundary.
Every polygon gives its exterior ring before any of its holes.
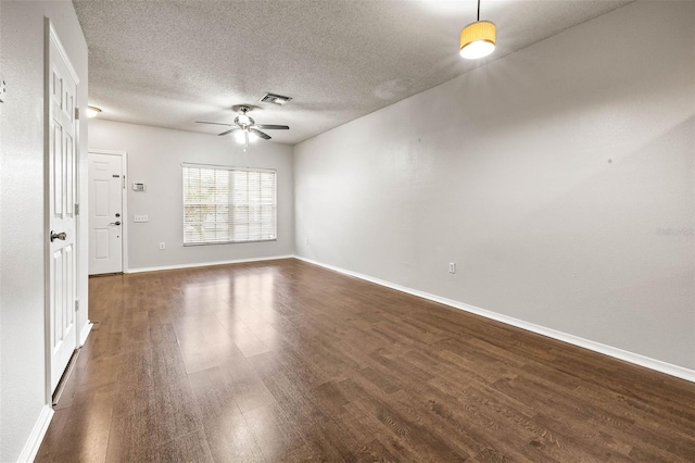
{"type": "Polygon", "coordinates": [[[639,353],[626,351],[622,349],[615,348],[612,346],[603,345],[601,342],[592,341],[590,339],[580,338],[579,336],[569,335],[567,333],[558,331],[556,329],[547,328],[545,326],[536,325],[533,323],[525,322],[522,320],[514,318],[511,316],[502,315],[496,312],[491,312],[485,309],[480,309],[473,305],[468,305],[463,302],[458,302],[452,299],[442,298],[435,295],[430,295],[429,292],[419,291],[417,289],[412,289],[401,285],[394,285],[393,283],[374,278],[368,275],[363,275],[357,272],[352,272],[349,270],[340,268],[333,265],[325,264],[321,262],[317,262],[311,259],[306,259],[300,255],[295,255],[295,259],[307,262],[309,264],[318,265],[325,268],[332,270],[334,272],[339,272],[345,275],[354,276],[356,278],[361,278],[380,286],[386,286],[387,288],[395,289],[397,291],[407,292],[408,295],[417,296],[422,299],[427,299],[433,302],[439,302],[444,305],[452,306],[454,309],[459,309],[466,312],[475,313],[476,315],[484,316],[486,318],[491,318],[497,322],[505,323],[507,325],[515,326],[517,328],[526,329],[528,331],[532,331],[539,335],[547,336],[548,338],[557,339],[559,341],[564,341],[573,346],[579,346],[584,349],[592,350],[594,352],[603,353],[608,356],[612,356],[615,359],[619,359],[629,363],[633,363],[635,365],[644,366],[649,370],[654,370],[660,373],[666,373],[667,375],[675,376],[681,379],[685,379],[692,383],[695,383],[695,371],[685,368],[683,366],[673,365],[667,362],[662,362],[660,360],[652,359],[648,356],[641,355],[639,353]]]}

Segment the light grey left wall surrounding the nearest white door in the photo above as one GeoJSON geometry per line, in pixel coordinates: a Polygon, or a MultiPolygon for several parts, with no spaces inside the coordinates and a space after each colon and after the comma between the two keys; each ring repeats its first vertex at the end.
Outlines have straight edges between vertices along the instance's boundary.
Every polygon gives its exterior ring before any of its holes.
{"type": "MultiPolygon", "coordinates": [[[[0,73],[0,461],[30,456],[50,416],[47,397],[46,212],[43,150],[45,17],[51,18],[80,78],[77,103],[87,107],[87,43],[70,1],[2,1],[0,73]]],[[[87,124],[80,122],[80,170],[87,124]]],[[[80,179],[80,186],[85,178],[80,179]]],[[[84,189],[79,195],[85,201],[84,189]]],[[[81,224],[79,224],[81,228],[81,224]]],[[[79,240],[79,237],[78,237],[79,240]]],[[[86,241],[78,241],[78,293],[87,321],[86,241]],[[83,259],[84,258],[84,259],[83,259]]],[[[36,450],[36,449],[34,449],[36,450]]]]}

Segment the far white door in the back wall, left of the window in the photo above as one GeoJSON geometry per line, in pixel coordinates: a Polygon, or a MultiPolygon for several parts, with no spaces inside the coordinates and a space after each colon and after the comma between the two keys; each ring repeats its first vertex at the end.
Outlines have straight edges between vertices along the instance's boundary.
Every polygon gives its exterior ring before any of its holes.
{"type": "Polygon", "coordinates": [[[89,153],[89,274],[123,272],[123,158],[89,153]]]}

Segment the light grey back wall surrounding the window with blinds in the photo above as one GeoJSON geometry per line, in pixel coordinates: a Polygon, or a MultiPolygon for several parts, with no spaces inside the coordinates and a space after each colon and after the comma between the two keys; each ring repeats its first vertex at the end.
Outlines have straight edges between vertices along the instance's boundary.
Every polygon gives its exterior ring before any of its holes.
{"type": "MultiPolygon", "coordinates": [[[[105,110],[105,109],[104,109],[105,110]]],[[[98,118],[89,122],[89,148],[128,153],[128,267],[152,268],[294,253],[292,147],[257,141],[248,152],[231,137],[170,130],[98,118]],[[181,163],[277,170],[277,241],[184,247],[181,163]],[[134,223],[147,214],[148,223],[134,223]],[[166,250],[159,249],[160,242],[166,250]]]]}

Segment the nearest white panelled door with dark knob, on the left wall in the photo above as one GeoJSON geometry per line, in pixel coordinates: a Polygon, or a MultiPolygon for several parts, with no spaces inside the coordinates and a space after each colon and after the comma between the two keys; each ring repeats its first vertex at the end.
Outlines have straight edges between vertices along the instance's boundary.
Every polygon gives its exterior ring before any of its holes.
{"type": "Polygon", "coordinates": [[[76,132],[75,96],[78,78],[50,28],[49,103],[49,342],[51,392],[77,347],[76,309],[76,132]]]}

